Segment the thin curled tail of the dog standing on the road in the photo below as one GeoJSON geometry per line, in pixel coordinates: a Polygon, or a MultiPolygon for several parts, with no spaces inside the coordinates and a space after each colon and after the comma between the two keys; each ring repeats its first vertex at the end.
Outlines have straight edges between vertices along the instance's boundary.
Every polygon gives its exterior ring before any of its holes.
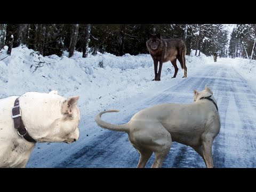
{"type": "Polygon", "coordinates": [[[101,111],[98,115],[95,116],[95,122],[102,128],[114,130],[114,131],[124,131],[126,133],[129,132],[129,126],[126,124],[122,125],[114,125],[111,123],[107,123],[101,119],[101,115],[105,113],[111,113],[111,112],[119,112],[119,110],[107,110],[107,111],[101,111]]]}

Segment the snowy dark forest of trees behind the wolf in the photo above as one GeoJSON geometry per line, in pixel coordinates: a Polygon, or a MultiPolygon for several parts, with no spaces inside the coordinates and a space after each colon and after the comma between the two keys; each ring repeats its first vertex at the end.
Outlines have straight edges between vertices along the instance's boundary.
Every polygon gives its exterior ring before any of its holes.
{"type": "Polygon", "coordinates": [[[183,39],[187,55],[196,50],[198,56],[256,59],[256,24],[237,24],[230,37],[222,24],[0,24],[0,49],[22,45],[43,56],[68,51],[69,57],[79,51],[84,58],[89,52],[137,55],[148,53],[146,41],[157,33],[183,39]]]}

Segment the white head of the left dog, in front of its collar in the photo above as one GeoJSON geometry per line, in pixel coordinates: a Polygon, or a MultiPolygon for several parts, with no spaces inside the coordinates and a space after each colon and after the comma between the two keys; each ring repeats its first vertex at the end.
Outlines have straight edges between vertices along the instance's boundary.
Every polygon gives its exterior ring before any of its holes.
{"type": "Polygon", "coordinates": [[[72,143],[79,138],[79,96],[63,98],[57,91],[27,92],[20,97],[22,121],[38,142],[72,143]]]}

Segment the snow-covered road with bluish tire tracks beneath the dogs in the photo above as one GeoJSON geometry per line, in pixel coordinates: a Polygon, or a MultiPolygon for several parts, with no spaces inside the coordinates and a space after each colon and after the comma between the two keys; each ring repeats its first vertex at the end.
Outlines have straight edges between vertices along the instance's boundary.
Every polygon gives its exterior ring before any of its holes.
{"type": "MultiPolygon", "coordinates": [[[[183,72],[183,71],[182,71],[183,72]]],[[[177,78],[181,78],[177,76],[177,78]]],[[[181,79],[174,86],[167,79],[164,86],[148,90],[106,108],[119,113],[104,114],[102,119],[113,124],[127,123],[139,110],[158,103],[193,102],[193,90],[207,84],[218,103],[221,130],[213,143],[215,167],[256,167],[256,91],[230,65],[219,59],[198,69],[193,76],[181,79]]],[[[101,110],[101,109],[100,109],[101,110]]],[[[37,143],[27,167],[136,167],[139,154],[131,146],[127,134],[103,130],[94,116],[81,119],[81,135],[77,142],[37,143]]],[[[146,167],[154,161],[150,157],[146,167]]],[[[163,167],[205,167],[203,159],[190,147],[173,142],[163,167]]]]}

